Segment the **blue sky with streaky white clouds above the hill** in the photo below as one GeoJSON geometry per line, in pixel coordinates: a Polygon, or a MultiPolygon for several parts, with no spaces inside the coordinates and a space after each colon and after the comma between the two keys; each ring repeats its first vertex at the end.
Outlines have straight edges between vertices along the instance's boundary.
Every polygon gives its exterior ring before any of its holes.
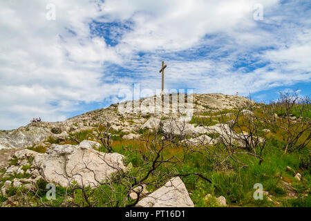
{"type": "Polygon", "coordinates": [[[0,129],[164,87],[311,94],[311,1],[1,0],[0,129]]]}

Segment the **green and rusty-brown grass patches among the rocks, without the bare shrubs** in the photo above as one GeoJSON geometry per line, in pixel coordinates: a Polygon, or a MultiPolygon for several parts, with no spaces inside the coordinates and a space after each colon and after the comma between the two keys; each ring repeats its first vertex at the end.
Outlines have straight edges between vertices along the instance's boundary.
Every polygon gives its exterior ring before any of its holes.
{"type": "MultiPolygon", "coordinates": [[[[298,113],[299,108],[295,107],[292,110],[292,115],[298,113]],[[295,109],[296,108],[296,109],[295,109]],[[296,111],[296,112],[295,112],[296,111]]],[[[306,107],[306,109],[309,106],[306,107]]],[[[202,113],[203,116],[211,116],[210,119],[218,119],[215,117],[216,115],[232,113],[234,110],[225,110],[222,112],[205,112],[202,113]]],[[[261,109],[254,109],[254,114],[262,116],[263,113],[261,109]]],[[[310,117],[310,113],[304,113],[305,117],[310,117]]],[[[217,124],[211,120],[207,120],[207,117],[198,117],[194,116],[191,119],[192,124],[211,126],[217,124]]],[[[231,116],[227,116],[224,118],[225,120],[232,119],[231,116]]],[[[281,119],[279,119],[281,120],[281,119]]],[[[241,131],[247,131],[247,119],[243,116],[239,117],[238,123],[242,124],[241,128],[234,128],[236,132],[241,133],[241,131]]],[[[285,144],[284,137],[286,136],[285,131],[282,128],[277,126],[267,125],[260,120],[254,120],[254,124],[258,128],[258,135],[264,137],[266,140],[265,148],[262,152],[261,157],[263,161],[261,164],[259,163],[258,158],[251,157],[246,154],[237,154],[236,160],[239,162],[243,162],[243,164],[247,164],[245,167],[241,167],[236,161],[229,158],[229,160],[222,164],[221,160],[218,158],[211,157],[204,151],[196,151],[192,153],[185,153],[181,146],[169,146],[164,151],[164,158],[176,156],[178,159],[185,158],[185,161],[176,164],[162,164],[158,167],[156,171],[153,171],[152,175],[146,180],[147,189],[149,191],[155,191],[156,187],[151,185],[153,182],[167,182],[169,179],[167,177],[167,171],[169,170],[171,173],[200,173],[205,177],[208,177],[212,183],[207,182],[206,180],[201,179],[196,175],[189,175],[185,177],[181,177],[182,181],[185,183],[187,190],[190,193],[190,198],[194,202],[195,206],[205,207],[205,206],[218,206],[216,202],[216,198],[220,195],[223,195],[229,206],[311,206],[311,198],[310,198],[310,189],[311,189],[311,146],[306,146],[306,148],[302,150],[292,151],[291,153],[284,154],[283,146],[285,144]],[[264,128],[270,129],[271,133],[261,132],[264,128]],[[290,166],[293,171],[286,171],[286,167],[290,166]],[[296,173],[301,173],[303,179],[299,182],[294,178],[296,173]],[[264,195],[263,200],[255,200],[253,197],[254,184],[260,183],[263,185],[263,190],[269,192],[269,196],[264,195]],[[290,185],[291,188],[288,188],[290,185]],[[294,193],[296,198],[289,198],[288,195],[290,193],[294,193]],[[211,195],[211,198],[205,198],[207,194],[211,195]],[[270,202],[268,197],[273,200],[270,202]]],[[[105,128],[100,128],[100,130],[104,131],[105,128]]],[[[160,131],[159,131],[160,132],[160,131]]],[[[89,140],[92,137],[92,130],[89,131],[81,131],[79,133],[75,133],[71,135],[82,142],[82,140],[89,140]]],[[[132,169],[126,173],[128,177],[135,175],[136,172],[140,169],[137,179],[144,177],[147,174],[148,169],[150,168],[149,164],[146,164],[141,167],[142,155],[141,153],[149,153],[150,144],[147,142],[138,141],[138,140],[123,140],[122,136],[126,135],[126,133],[122,131],[113,131],[110,130],[109,133],[112,134],[111,138],[113,140],[113,152],[120,153],[125,156],[124,164],[129,165],[132,164],[132,169]]],[[[152,138],[152,134],[148,130],[138,131],[141,137],[150,137],[152,138]]],[[[218,134],[207,134],[210,137],[217,138],[218,134]]],[[[158,135],[159,137],[161,135],[158,135]]],[[[50,143],[57,143],[57,141],[53,140],[53,137],[50,137],[50,143]]],[[[74,141],[66,141],[70,144],[75,144],[74,141]]],[[[299,142],[298,142],[299,143],[299,142]]],[[[217,152],[219,155],[223,154],[220,149],[223,147],[220,146],[209,147],[210,151],[219,151],[217,152]]],[[[32,147],[35,150],[34,147],[32,147]]],[[[235,149],[236,150],[236,149],[235,149]]],[[[44,151],[43,147],[38,146],[37,151],[44,151]]],[[[106,151],[104,148],[100,148],[100,151],[106,151]]],[[[245,150],[238,150],[245,151],[245,150]]],[[[256,150],[259,151],[259,150],[256,150]]],[[[154,157],[151,154],[149,157],[154,157]]],[[[12,165],[17,165],[17,159],[13,158],[10,162],[12,165]]],[[[24,166],[23,170],[26,171],[28,166],[24,166]]],[[[28,174],[17,175],[13,174],[6,178],[0,179],[0,186],[6,180],[13,180],[15,177],[28,177],[28,174]]],[[[91,193],[94,191],[93,198],[91,198],[91,202],[98,201],[97,206],[116,206],[116,204],[106,204],[109,202],[108,195],[113,195],[113,198],[119,200],[120,202],[126,197],[126,189],[123,185],[120,184],[120,177],[115,177],[115,181],[113,182],[114,192],[111,192],[111,187],[109,185],[100,186],[103,191],[100,189],[87,189],[87,193],[91,193]]],[[[44,180],[39,180],[37,182],[39,186],[38,195],[44,202],[48,202],[46,199],[46,182],[44,180]]],[[[71,190],[64,189],[61,186],[57,186],[57,192],[64,194],[66,191],[75,191],[75,198],[73,198],[73,202],[78,204],[83,204],[84,206],[88,206],[88,204],[83,199],[83,193],[81,190],[71,190]]],[[[11,188],[8,190],[9,195],[17,194],[17,189],[11,188]]],[[[30,200],[34,201],[35,196],[30,195],[30,200]]],[[[0,195],[0,202],[4,201],[5,198],[0,195]]],[[[50,202],[51,204],[57,206],[62,204],[62,198],[57,195],[57,200],[50,202]]],[[[126,199],[126,203],[131,203],[133,200],[126,199]]]]}

